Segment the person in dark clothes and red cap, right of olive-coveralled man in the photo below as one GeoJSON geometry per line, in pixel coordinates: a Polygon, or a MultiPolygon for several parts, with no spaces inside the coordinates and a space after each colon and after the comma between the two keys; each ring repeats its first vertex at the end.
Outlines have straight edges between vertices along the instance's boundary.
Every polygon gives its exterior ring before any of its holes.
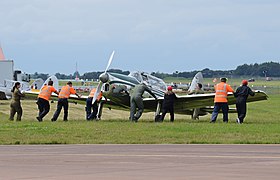
{"type": "Polygon", "coordinates": [[[174,101],[177,96],[172,91],[172,86],[167,87],[167,91],[164,93],[164,100],[162,103],[162,114],[160,116],[160,121],[164,120],[167,112],[170,113],[170,122],[174,122],[174,101]]]}

